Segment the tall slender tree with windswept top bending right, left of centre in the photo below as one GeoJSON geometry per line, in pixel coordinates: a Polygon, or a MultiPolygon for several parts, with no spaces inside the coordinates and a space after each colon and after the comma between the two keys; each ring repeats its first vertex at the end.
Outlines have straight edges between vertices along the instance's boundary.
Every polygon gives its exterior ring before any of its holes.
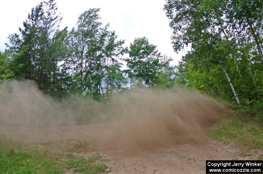
{"type": "Polygon", "coordinates": [[[77,91],[80,94],[87,89],[84,85],[84,81],[86,81],[86,84],[88,83],[87,70],[85,69],[87,66],[86,61],[90,57],[88,51],[93,47],[94,40],[99,32],[99,26],[101,26],[99,11],[100,9],[94,8],[80,14],[77,27],[70,32],[71,64],[74,67],[75,87],[78,88],[77,91]]]}

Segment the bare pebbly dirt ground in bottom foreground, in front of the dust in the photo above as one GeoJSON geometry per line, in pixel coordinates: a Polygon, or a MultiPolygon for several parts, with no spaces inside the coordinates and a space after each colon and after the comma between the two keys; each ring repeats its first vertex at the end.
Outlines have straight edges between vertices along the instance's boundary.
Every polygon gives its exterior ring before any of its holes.
{"type": "Polygon", "coordinates": [[[238,156],[240,150],[211,139],[175,144],[174,147],[160,148],[154,152],[141,151],[123,155],[119,152],[104,152],[112,159],[108,165],[111,173],[205,173],[205,160],[244,160],[238,156]]]}

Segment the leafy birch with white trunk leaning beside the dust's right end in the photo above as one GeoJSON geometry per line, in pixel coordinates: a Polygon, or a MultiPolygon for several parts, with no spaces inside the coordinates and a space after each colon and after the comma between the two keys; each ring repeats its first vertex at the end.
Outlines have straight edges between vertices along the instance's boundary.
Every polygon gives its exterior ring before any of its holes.
{"type": "MultiPolygon", "coordinates": [[[[215,24],[212,13],[204,7],[202,1],[166,1],[164,10],[166,10],[167,17],[171,19],[171,28],[174,29],[172,36],[174,49],[175,51],[179,51],[185,45],[192,44],[192,53],[198,53],[198,57],[194,59],[201,59],[200,61],[194,61],[194,63],[199,62],[203,66],[207,63],[220,64],[228,79],[236,102],[239,104],[239,97],[224,67],[225,58],[231,55],[231,50],[227,42],[222,40],[222,30],[215,24]],[[224,46],[224,49],[220,45],[224,46]],[[215,53],[213,59],[207,59],[203,56],[205,48],[210,48],[215,53]],[[218,50],[223,51],[225,54],[218,54],[218,50]]],[[[215,18],[217,19],[217,17],[215,18]]]]}

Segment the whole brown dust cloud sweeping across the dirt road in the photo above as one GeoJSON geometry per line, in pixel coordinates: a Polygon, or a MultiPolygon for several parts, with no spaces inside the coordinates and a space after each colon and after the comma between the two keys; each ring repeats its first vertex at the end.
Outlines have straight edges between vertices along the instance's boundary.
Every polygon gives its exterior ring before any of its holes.
{"type": "Polygon", "coordinates": [[[0,87],[0,133],[24,141],[81,139],[158,147],[202,134],[227,110],[224,103],[183,88],[124,91],[108,102],[74,96],[58,102],[30,81],[0,87]]]}

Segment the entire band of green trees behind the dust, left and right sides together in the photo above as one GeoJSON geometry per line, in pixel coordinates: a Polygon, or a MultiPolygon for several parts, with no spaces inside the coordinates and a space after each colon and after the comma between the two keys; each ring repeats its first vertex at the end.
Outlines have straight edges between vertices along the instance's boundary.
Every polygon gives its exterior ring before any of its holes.
{"type": "Polygon", "coordinates": [[[100,9],[60,30],[62,17],[49,0],[32,8],[19,34],[9,36],[0,53],[0,80],[33,80],[57,99],[110,99],[128,88],[183,85],[263,111],[263,0],[166,0],[164,10],[174,50],[191,47],[176,67],[145,37],[124,47],[109,24],[102,26],[100,9]]]}

